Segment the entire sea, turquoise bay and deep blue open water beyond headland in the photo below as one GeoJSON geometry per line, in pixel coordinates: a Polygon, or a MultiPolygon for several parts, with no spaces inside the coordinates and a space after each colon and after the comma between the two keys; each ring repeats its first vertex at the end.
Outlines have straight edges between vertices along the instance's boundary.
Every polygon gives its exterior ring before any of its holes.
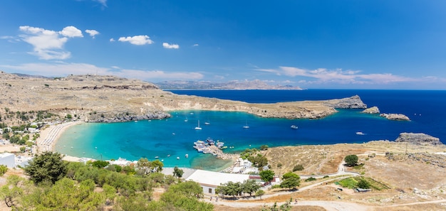
{"type": "Polygon", "coordinates": [[[222,141],[227,153],[261,145],[394,141],[400,133],[429,134],[446,141],[445,90],[170,90],[175,94],[232,99],[250,103],[338,99],[358,95],[381,113],[405,114],[410,121],[392,121],[363,109],[337,109],[323,119],[262,118],[244,112],[181,110],[170,119],[123,123],[85,123],[61,135],[55,150],[69,156],[94,159],[160,159],[166,167],[220,171],[232,162],[198,153],[193,142],[208,138],[222,141]],[[205,124],[207,122],[208,124],[205,124]],[[196,126],[202,130],[195,130],[196,126]],[[291,129],[291,125],[298,129],[291,129]],[[245,129],[244,126],[249,126],[245,129]],[[361,133],[358,133],[361,132],[361,133]],[[188,158],[186,158],[186,154],[188,158]]]}

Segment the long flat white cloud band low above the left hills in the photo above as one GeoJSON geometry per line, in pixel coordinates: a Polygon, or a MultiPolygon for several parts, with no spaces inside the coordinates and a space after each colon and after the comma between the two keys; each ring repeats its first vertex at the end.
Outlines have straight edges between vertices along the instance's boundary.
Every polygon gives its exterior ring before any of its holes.
{"type": "Polygon", "coordinates": [[[130,70],[118,66],[97,67],[85,63],[26,63],[22,65],[0,65],[4,69],[24,72],[31,75],[58,77],[66,75],[115,75],[146,81],[160,80],[201,80],[204,75],[199,72],[165,72],[162,70],[130,70]]]}

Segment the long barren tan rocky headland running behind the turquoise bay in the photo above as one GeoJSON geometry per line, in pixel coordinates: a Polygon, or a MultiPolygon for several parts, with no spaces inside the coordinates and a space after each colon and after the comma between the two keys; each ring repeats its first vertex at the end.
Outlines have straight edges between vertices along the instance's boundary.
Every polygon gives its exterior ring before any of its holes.
{"type": "Polygon", "coordinates": [[[182,109],[248,112],[267,118],[318,119],[337,112],[336,108],[367,107],[358,96],[321,101],[250,104],[173,94],[160,90],[149,82],[107,75],[47,78],[0,72],[0,92],[0,107],[4,108],[0,114],[8,117],[3,119],[6,123],[14,123],[14,118],[19,118],[11,112],[20,112],[20,118],[31,120],[35,116],[28,113],[46,111],[54,114],[47,120],[68,118],[116,122],[165,119],[170,117],[167,112],[182,109]]]}

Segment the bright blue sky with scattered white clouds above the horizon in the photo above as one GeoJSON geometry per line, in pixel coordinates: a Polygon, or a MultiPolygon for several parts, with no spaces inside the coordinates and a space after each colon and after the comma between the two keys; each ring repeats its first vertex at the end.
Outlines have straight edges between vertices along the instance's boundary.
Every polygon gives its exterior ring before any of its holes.
{"type": "Polygon", "coordinates": [[[446,90],[446,1],[3,0],[0,70],[446,90]]]}

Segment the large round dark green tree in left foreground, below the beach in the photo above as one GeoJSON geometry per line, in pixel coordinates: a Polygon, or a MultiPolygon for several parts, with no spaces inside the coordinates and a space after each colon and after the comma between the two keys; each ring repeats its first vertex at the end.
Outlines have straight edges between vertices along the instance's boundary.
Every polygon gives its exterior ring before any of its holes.
{"type": "Polygon", "coordinates": [[[24,170],[34,183],[41,183],[45,180],[56,183],[66,175],[67,163],[62,161],[60,153],[46,151],[29,161],[24,170]]]}

